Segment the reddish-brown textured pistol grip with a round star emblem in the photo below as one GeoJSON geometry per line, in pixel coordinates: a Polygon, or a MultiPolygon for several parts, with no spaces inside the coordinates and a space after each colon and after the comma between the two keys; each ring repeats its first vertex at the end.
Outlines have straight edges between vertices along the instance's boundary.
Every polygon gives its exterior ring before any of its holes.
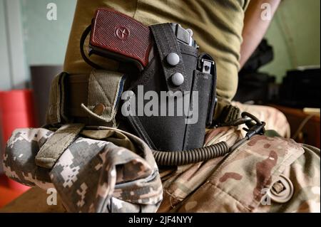
{"type": "Polygon", "coordinates": [[[148,26],[113,9],[97,9],[89,41],[93,53],[121,61],[132,61],[139,68],[148,64],[151,32],[148,26]]]}

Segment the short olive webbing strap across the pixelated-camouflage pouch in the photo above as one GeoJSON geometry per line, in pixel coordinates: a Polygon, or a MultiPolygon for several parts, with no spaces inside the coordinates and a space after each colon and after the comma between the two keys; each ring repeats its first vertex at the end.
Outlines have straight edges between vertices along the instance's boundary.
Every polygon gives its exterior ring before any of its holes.
{"type": "Polygon", "coordinates": [[[74,141],[83,124],[67,124],[60,127],[41,147],[36,155],[36,165],[51,169],[61,154],[74,141]]]}

